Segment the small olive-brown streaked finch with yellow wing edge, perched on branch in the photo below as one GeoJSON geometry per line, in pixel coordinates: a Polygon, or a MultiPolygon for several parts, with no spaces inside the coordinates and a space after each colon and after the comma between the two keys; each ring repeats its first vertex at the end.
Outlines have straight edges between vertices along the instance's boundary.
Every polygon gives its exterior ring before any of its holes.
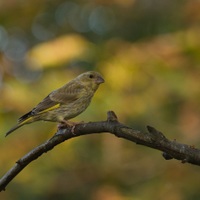
{"type": "Polygon", "coordinates": [[[96,71],[80,74],[62,87],[53,90],[30,112],[21,116],[5,136],[25,124],[36,121],[51,121],[67,124],[69,119],[81,114],[90,104],[99,85],[105,80],[96,71]]]}

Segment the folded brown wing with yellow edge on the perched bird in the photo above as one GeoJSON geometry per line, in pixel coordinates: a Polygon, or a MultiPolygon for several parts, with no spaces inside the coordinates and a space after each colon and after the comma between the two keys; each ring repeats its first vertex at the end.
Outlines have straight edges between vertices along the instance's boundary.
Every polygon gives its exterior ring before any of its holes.
{"type": "Polygon", "coordinates": [[[39,114],[58,108],[61,104],[68,104],[80,97],[83,86],[77,82],[69,82],[67,85],[54,90],[43,99],[33,110],[32,114],[39,114]]]}

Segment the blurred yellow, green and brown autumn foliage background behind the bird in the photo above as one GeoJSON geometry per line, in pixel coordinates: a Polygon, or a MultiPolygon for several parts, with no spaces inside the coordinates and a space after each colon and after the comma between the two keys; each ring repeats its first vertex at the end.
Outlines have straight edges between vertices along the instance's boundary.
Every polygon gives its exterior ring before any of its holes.
{"type": "MultiPolygon", "coordinates": [[[[56,132],[17,119],[78,74],[106,82],[74,121],[120,122],[200,147],[199,0],[0,1],[0,175],[56,132]]],[[[57,146],[26,167],[1,199],[192,200],[199,167],[94,134],[57,146]]]]}

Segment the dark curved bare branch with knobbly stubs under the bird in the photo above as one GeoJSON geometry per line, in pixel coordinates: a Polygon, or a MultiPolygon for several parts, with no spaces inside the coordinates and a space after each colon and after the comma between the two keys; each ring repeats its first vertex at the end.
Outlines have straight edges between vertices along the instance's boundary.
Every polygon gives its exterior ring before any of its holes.
{"type": "Polygon", "coordinates": [[[163,152],[166,160],[177,159],[182,163],[190,163],[200,166],[200,150],[190,145],[181,144],[176,141],[170,141],[163,133],[151,126],[147,126],[148,132],[143,133],[121,124],[113,111],[107,113],[107,120],[100,122],[89,122],[77,124],[73,128],[59,129],[55,135],[45,143],[36,147],[20,158],[16,164],[0,179],[0,191],[4,191],[6,186],[19,174],[28,164],[36,160],[42,154],[52,150],[58,144],[69,140],[70,138],[94,134],[111,133],[117,137],[124,138],[163,152]]]}

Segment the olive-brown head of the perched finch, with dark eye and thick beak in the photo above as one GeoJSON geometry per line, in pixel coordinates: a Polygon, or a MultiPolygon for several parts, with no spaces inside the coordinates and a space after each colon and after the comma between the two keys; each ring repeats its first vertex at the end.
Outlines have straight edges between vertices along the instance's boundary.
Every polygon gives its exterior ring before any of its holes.
{"type": "Polygon", "coordinates": [[[93,90],[97,90],[100,84],[104,83],[104,79],[101,74],[94,71],[85,72],[78,76],[82,85],[90,87],[93,90]]]}

